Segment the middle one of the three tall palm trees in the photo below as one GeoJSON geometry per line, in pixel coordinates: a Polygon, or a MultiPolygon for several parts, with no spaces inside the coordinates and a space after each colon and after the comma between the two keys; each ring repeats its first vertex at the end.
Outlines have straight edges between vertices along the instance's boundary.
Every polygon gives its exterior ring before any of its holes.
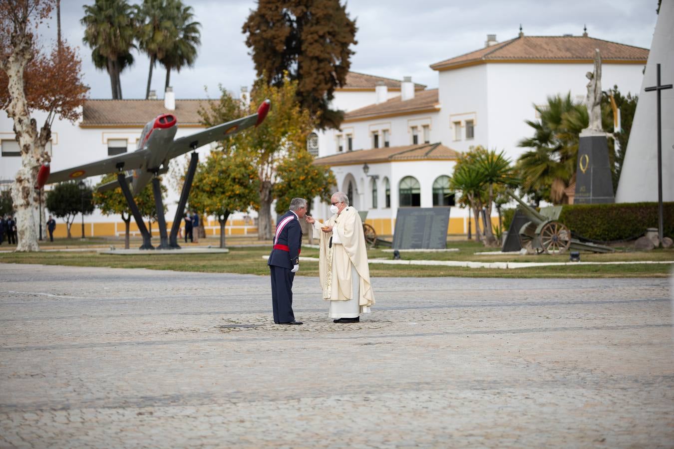
{"type": "Polygon", "coordinates": [[[177,40],[177,7],[175,0],[144,0],[136,7],[138,28],[138,42],[140,49],[150,57],[150,72],[148,73],[148,87],[145,98],[150,98],[150,84],[152,83],[152,69],[157,61],[166,57],[173,42],[177,40]]]}

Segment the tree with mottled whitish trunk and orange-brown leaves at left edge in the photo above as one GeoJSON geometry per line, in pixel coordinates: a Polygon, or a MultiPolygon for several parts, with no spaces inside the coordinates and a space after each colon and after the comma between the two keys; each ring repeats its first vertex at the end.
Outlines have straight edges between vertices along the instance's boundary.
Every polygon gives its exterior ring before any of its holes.
{"type": "Polygon", "coordinates": [[[0,1],[0,106],[13,119],[21,168],[11,187],[16,208],[17,251],[37,251],[38,170],[51,161],[45,151],[54,118],[80,117],[88,87],[74,48],[60,42],[49,53],[40,48],[38,27],[51,18],[55,0],[0,1]],[[44,124],[31,113],[47,112],[44,124]]]}

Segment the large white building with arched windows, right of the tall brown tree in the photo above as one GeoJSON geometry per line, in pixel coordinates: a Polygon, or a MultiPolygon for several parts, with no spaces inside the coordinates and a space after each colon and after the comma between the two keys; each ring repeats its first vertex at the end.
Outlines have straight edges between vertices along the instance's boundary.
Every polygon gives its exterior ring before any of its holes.
{"type": "MultiPolygon", "coordinates": [[[[617,85],[623,94],[638,92],[648,57],[645,48],[587,34],[524,36],[520,32],[505,42],[488,35],[483,48],[431,65],[438,72],[437,89],[419,90],[405,79],[400,95],[390,98],[387,86],[375,85],[371,78],[374,101],[360,108],[356,99],[348,102],[348,91],[337,92],[335,104],[346,106],[348,112],[339,130],[318,133],[319,147],[314,151],[321,157],[315,163],[332,166],[338,188],[347,191],[351,185],[353,205],[369,211],[368,221],[377,232],[390,234],[386,231],[392,229],[398,207],[437,205],[437,192],[446,179],[441,176],[451,176],[455,151],[482,145],[505,150],[514,161],[523,152],[518,142],[532,135],[525,120],[537,120],[534,105],[545,105],[548,96],[569,92],[584,101],[585,74],[593,69],[595,48],[603,59],[603,88],[617,85]],[[426,159],[402,158],[404,151],[419,156],[421,148],[433,146],[427,144],[439,145],[435,151],[441,148],[443,158],[434,158],[433,151],[426,159]],[[395,156],[381,158],[381,147],[391,147],[395,156]],[[387,182],[390,205],[381,201],[387,182]],[[418,204],[407,201],[410,185],[419,191],[418,204]],[[376,206],[373,190],[379,195],[376,206]]],[[[315,207],[315,215],[327,215],[325,205],[315,207]]],[[[452,209],[450,233],[466,232],[467,213],[452,209]]]]}

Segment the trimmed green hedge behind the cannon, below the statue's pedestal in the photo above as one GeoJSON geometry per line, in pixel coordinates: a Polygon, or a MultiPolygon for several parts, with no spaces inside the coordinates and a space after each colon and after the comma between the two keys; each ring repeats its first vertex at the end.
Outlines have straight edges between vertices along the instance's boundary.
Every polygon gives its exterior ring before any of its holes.
{"type": "MultiPolygon", "coordinates": [[[[663,232],[674,237],[674,203],[663,203],[663,215],[663,232]]],[[[626,240],[658,227],[658,203],[564,205],[559,221],[593,240],[626,240]]]]}

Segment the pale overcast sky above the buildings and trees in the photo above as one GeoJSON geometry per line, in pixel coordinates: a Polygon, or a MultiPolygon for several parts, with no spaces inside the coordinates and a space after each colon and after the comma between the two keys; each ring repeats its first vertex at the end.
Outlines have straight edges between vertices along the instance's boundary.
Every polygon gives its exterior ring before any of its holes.
{"type": "MultiPolygon", "coordinates": [[[[129,0],[138,3],[140,0],[129,0]]],[[[82,44],[83,5],[92,1],[61,0],[61,27],[70,44],[80,47],[84,81],[91,98],[111,98],[110,79],[91,63],[82,44]]],[[[218,85],[238,92],[251,85],[255,70],[241,26],[255,0],[183,0],[202,24],[202,46],[192,69],[171,73],[177,98],[218,96],[218,85]]],[[[358,28],[351,70],[412,80],[437,87],[437,72],[429,65],[484,46],[487,34],[499,42],[517,36],[520,24],[529,36],[561,36],[583,32],[594,38],[650,47],[657,0],[350,0],[346,10],[358,28]]],[[[56,20],[42,36],[55,38],[56,20]]],[[[150,61],[135,54],[135,65],[121,75],[124,98],[144,98],[150,61]]],[[[166,71],[157,66],[152,89],[162,98],[166,71]]]]}

